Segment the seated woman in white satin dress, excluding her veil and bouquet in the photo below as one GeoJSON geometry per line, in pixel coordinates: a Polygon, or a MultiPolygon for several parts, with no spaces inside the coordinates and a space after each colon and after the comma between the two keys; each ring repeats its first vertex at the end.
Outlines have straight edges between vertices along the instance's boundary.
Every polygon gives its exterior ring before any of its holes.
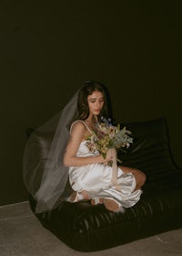
{"type": "Polygon", "coordinates": [[[87,82],[79,91],[78,120],[72,123],[66,145],[64,165],[69,167],[69,181],[76,191],[69,200],[76,202],[91,199],[92,204],[104,204],[108,210],[118,211],[136,204],[146,176],[141,171],[118,166],[116,184],[112,183],[112,166],[109,161],[116,159],[112,149],[106,158],[98,151],[90,153],[86,139],[95,130],[101,116],[107,117],[106,93],[102,84],[87,82]]]}

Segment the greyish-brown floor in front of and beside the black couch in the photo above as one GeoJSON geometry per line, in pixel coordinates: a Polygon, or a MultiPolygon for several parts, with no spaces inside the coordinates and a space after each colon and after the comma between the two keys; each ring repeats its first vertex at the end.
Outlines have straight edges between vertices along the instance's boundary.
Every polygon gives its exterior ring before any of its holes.
{"type": "Polygon", "coordinates": [[[79,252],[68,248],[44,229],[28,202],[0,207],[1,256],[179,256],[182,255],[182,229],[137,240],[105,251],[79,252]]]}

